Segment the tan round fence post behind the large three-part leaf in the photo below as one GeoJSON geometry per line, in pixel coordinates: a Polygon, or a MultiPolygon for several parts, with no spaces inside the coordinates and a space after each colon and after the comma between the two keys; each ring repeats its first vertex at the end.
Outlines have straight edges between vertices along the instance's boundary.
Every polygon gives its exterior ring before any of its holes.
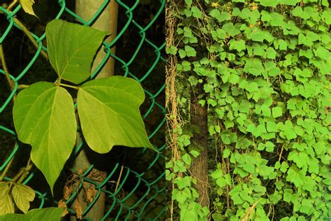
{"type": "MultiPolygon", "coordinates": [[[[91,17],[94,16],[98,8],[104,3],[105,0],[76,0],[75,5],[75,13],[78,14],[82,19],[88,21],[91,17]]],[[[96,21],[91,25],[91,27],[94,27],[95,29],[100,29],[102,31],[108,31],[110,33],[110,36],[106,39],[107,42],[112,41],[116,37],[117,32],[117,12],[118,12],[118,4],[115,2],[115,0],[110,0],[110,3],[108,3],[108,6],[105,7],[101,15],[98,16],[96,21]]],[[[112,53],[115,53],[115,48],[112,48],[112,53]]],[[[94,60],[94,64],[92,65],[92,73],[98,66],[98,64],[101,63],[103,58],[105,57],[105,52],[101,49],[98,54],[96,55],[96,58],[94,60]]],[[[115,60],[110,57],[108,59],[108,62],[103,66],[103,69],[100,71],[98,76],[96,78],[107,78],[109,76],[114,75],[114,66],[115,66],[115,60]]],[[[78,143],[80,143],[82,139],[80,136],[78,136],[78,143]]],[[[78,156],[75,158],[73,162],[73,169],[87,169],[91,165],[90,162],[90,156],[87,153],[84,148],[82,148],[82,151],[78,154],[78,156]]],[[[101,177],[106,177],[107,173],[105,171],[96,171],[96,173],[100,174],[101,177]]],[[[83,193],[84,191],[80,191],[80,194],[78,194],[78,197],[73,202],[73,208],[75,208],[75,204],[77,203],[77,200],[80,199],[80,205],[82,206],[82,209],[87,207],[87,203],[82,201],[83,193]]],[[[105,208],[105,194],[101,192],[101,195],[98,197],[98,200],[96,201],[96,204],[91,208],[89,213],[85,215],[89,220],[93,221],[99,221],[103,218],[104,214],[104,208],[105,208]]],[[[71,220],[76,220],[75,217],[71,217],[71,220]]]]}

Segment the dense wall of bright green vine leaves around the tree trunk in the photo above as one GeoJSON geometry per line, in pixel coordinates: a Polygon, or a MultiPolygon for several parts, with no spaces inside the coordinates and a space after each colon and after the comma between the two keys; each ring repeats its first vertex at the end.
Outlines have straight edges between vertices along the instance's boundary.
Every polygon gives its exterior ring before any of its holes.
{"type": "MultiPolygon", "coordinates": [[[[167,52],[178,59],[180,157],[167,164],[181,220],[328,220],[331,217],[328,0],[192,1],[167,52]],[[191,187],[189,94],[209,111],[211,206],[191,187]],[[209,215],[208,215],[209,213],[209,215]]],[[[176,117],[176,116],[172,116],[176,117]]],[[[176,214],[176,211],[179,214],[176,214]]]]}

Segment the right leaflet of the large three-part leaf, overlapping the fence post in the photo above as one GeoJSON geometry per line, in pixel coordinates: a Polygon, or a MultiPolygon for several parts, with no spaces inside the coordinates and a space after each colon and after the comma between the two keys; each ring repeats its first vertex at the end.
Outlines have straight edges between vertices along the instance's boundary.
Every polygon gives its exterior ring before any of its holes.
{"type": "Polygon", "coordinates": [[[152,148],[139,106],[145,100],[140,84],[122,76],[91,80],[78,91],[78,114],[89,147],[99,153],[114,145],[152,148]]]}

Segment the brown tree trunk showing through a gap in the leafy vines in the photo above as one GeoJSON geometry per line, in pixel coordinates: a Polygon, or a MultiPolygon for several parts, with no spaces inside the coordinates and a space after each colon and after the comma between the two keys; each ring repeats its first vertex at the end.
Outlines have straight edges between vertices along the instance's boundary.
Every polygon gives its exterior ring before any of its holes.
{"type": "MultiPolygon", "coordinates": [[[[209,208],[208,190],[208,129],[207,129],[207,105],[198,104],[198,95],[203,94],[203,85],[197,85],[196,91],[191,89],[191,125],[198,128],[198,132],[193,134],[192,143],[198,145],[200,155],[193,159],[191,173],[196,178],[196,190],[199,194],[198,203],[209,208]]],[[[202,98],[204,99],[204,98],[202,98]]]]}

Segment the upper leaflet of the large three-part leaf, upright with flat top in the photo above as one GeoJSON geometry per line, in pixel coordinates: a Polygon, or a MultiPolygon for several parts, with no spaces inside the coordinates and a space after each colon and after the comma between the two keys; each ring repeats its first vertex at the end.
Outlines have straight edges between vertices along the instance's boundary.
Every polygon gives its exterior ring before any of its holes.
{"type": "Polygon", "coordinates": [[[105,31],[63,20],[52,20],[46,27],[47,52],[59,78],[79,84],[90,76],[91,64],[105,31]]]}

